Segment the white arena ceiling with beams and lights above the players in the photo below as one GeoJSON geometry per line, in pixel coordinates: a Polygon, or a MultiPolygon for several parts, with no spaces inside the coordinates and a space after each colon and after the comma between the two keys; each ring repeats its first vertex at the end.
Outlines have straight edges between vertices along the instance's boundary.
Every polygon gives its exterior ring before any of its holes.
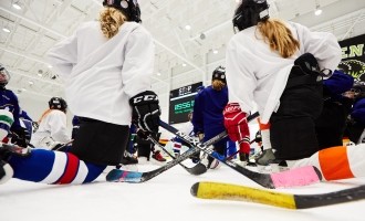
{"type": "MultiPolygon", "coordinates": [[[[46,51],[76,27],[95,20],[102,0],[1,0],[0,63],[11,73],[18,94],[62,96],[62,80],[45,60],[46,51]],[[18,6],[18,8],[17,8],[18,6]]],[[[364,0],[269,0],[272,17],[311,30],[334,33],[338,41],[365,33],[364,0]],[[316,9],[322,14],[315,15],[316,9]]],[[[233,35],[237,0],[139,0],[143,25],[153,34],[156,64],[153,90],[161,98],[191,83],[209,83],[225,64],[233,35]]],[[[167,105],[167,104],[166,104],[167,105]]],[[[164,106],[164,104],[163,104],[164,106]]]]}

